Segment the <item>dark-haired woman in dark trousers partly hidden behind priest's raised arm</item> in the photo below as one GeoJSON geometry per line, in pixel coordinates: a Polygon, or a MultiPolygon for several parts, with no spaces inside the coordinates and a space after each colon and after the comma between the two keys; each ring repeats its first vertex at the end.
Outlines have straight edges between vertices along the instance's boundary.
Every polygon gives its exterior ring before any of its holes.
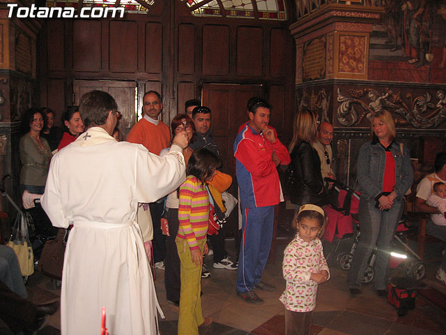
{"type": "MultiPolygon", "coordinates": [[[[171,122],[172,138],[175,137],[177,133],[185,131],[187,139],[192,142],[192,138],[195,133],[194,121],[186,114],[178,114],[171,122]]],[[[167,155],[169,149],[164,149],[161,151],[160,156],[163,157],[167,155]]],[[[190,156],[194,150],[191,147],[186,147],[183,149],[183,156],[185,163],[189,161],[190,156]]],[[[178,190],[167,195],[166,199],[166,211],[167,211],[167,222],[169,225],[169,235],[166,238],[166,257],[164,258],[164,285],[166,287],[166,297],[167,301],[171,304],[179,306],[180,304],[180,258],[178,257],[178,251],[176,250],[176,234],[178,233],[178,190]]]]}

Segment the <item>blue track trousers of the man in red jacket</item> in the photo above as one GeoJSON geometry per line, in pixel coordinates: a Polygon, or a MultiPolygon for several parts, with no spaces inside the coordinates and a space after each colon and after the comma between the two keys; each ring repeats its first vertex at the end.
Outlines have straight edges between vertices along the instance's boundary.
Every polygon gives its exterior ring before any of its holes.
{"type": "Polygon", "coordinates": [[[270,255],[274,206],[242,209],[237,292],[249,292],[261,280],[270,255]]]}

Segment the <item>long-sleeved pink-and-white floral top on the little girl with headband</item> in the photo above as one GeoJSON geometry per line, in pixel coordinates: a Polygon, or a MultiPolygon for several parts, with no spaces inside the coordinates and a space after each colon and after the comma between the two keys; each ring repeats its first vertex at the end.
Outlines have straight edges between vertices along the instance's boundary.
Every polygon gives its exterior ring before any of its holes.
{"type": "Polygon", "coordinates": [[[330,278],[321,240],[306,242],[297,234],[285,248],[282,270],[286,289],[280,301],[285,308],[293,312],[313,311],[316,308],[318,284],[309,277],[314,272],[326,270],[330,278]]]}

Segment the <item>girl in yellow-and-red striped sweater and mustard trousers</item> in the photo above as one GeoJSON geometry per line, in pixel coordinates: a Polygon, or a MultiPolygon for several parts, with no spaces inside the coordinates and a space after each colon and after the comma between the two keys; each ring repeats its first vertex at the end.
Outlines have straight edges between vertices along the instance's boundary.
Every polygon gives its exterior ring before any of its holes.
{"type": "Polygon", "coordinates": [[[208,252],[209,198],[206,181],[211,181],[220,168],[220,159],[207,149],[194,151],[187,163],[187,179],[180,186],[176,247],[180,257],[180,315],[178,335],[198,334],[198,327],[210,325],[201,311],[201,266],[208,252]]]}

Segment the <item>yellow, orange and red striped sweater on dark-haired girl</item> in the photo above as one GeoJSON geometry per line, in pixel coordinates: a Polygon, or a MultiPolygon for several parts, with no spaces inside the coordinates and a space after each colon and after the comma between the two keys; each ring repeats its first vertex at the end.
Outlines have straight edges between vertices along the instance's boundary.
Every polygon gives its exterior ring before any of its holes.
{"type": "Polygon", "coordinates": [[[178,221],[180,227],[176,235],[186,239],[190,250],[198,249],[199,239],[205,239],[208,232],[209,198],[206,185],[192,175],[180,186],[178,221]]]}

